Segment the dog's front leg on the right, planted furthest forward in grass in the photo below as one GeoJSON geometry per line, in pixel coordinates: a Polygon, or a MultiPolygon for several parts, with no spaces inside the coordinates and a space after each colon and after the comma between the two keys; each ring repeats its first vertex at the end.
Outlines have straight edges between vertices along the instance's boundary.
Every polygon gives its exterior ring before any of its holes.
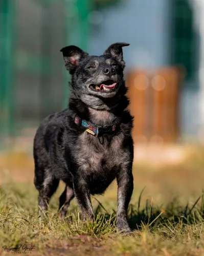
{"type": "Polygon", "coordinates": [[[127,210],[133,190],[132,164],[121,168],[117,176],[118,182],[118,211],[117,228],[119,231],[131,231],[127,223],[127,210]]]}

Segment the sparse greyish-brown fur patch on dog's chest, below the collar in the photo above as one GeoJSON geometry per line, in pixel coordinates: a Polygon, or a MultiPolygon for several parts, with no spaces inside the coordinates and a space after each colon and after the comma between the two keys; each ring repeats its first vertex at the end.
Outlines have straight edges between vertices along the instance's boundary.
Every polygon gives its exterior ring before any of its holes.
{"type": "Polygon", "coordinates": [[[96,138],[86,131],[79,136],[76,144],[75,160],[87,175],[108,175],[120,167],[127,153],[123,149],[124,135],[113,136],[109,141],[96,138]],[[101,141],[101,142],[100,142],[101,141]]]}

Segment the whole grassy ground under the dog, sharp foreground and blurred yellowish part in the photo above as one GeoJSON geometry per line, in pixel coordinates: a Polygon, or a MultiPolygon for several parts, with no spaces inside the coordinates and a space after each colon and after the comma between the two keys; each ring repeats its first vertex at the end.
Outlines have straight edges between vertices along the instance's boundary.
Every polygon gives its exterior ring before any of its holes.
{"type": "Polygon", "coordinates": [[[116,229],[116,183],[104,196],[92,198],[94,222],[80,220],[75,200],[67,217],[58,217],[63,184],[51,200],[48,216],[41,220],[37,218],[32,169],[27,170],[30,180],[25,182],[20,181],[22,173],[13,172],[14,167],[5,172],[2,166],[0,254],[11,254],[3,250],[5,245],[33,244],[35,248],[27,250],[32,255],[204,255],[203,156],[203,148],[198,148],[183,163],[156,167],[134,164],[129,234],[116,229]]]}

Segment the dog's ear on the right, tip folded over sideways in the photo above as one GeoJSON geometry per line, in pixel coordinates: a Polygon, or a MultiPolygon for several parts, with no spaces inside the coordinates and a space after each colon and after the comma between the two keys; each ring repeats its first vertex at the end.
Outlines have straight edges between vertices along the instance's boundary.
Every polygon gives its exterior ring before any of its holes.
{"type": "Polygon", "coordinates": [[[123,49],[122,47],[129,46],[125,42],[116,42],[116,44],[110,45],[104,52],[105,55],[110,55],[117,59],[125,67],[125,61],[123,60],[123,49]]]}

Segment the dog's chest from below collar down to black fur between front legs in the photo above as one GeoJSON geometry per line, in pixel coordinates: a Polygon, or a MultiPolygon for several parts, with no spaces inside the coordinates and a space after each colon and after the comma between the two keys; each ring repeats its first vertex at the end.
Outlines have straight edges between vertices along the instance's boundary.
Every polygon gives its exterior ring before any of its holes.
{"type": "Polygon", "coordinates": [[[111,141],[104,138],[103,144],[87,132],[78,138],[75,161],[92,195],[102,194],[127,161],[129,154],[122,147],[123,137],[114,136],[111,141]]]}

